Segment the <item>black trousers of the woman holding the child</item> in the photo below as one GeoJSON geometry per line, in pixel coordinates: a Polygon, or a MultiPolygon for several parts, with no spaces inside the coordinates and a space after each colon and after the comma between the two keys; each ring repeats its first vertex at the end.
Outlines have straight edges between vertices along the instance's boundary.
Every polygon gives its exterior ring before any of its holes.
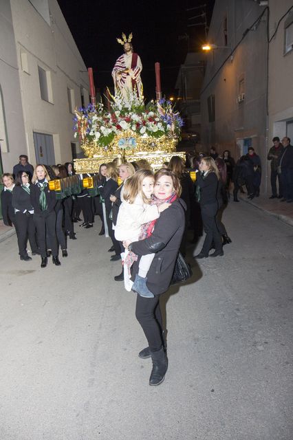
{"type": "Polygon", "coordinates": [[[135,317],[142,326],[144,335],[151,351],[162,348],[162,313],[160,309],[160,296],[154,298],[136,298],[135,317]]]}

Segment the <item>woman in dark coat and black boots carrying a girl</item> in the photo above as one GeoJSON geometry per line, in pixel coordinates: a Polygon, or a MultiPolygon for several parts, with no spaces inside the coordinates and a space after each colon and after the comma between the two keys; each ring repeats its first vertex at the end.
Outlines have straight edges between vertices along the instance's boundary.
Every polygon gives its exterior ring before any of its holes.
{"type": "Polygon", "coordinates": [[[160,295],[169,289],[174,272],[178,250],[182,241],[185,228],[186,204],[179,199],[181,194],[180,180],[171,170],[161,169],[155,173],[155,186],[153,194],[156,204],[169,202],[171,206],[161,212],[155,221],[151,236],[144,240],[130,243],[124,241],[124,248],[128,248],[138,256],[132,266],[132,276],[138,274],[138,265],[142,255],[155,253],[146,285],[153,298],[137,296],[135,316],[142,326],[149,347],[139,353],[142,359],[151,358],[153,369],[149,384],[160,385],[168,369],[166,357],[166,344],[163,338],[162,313],[160,310],[160,295]]]}

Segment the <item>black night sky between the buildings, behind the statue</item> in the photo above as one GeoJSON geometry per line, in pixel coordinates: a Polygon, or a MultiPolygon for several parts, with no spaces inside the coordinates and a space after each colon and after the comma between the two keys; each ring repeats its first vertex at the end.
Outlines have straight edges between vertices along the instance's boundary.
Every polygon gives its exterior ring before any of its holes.
{"type": "Polygon", "coordinates": [[[209,23],[215,0],[57,0],[87,67],[93,67],[96,89],[113,86],[111,69],[123,53],[116,37],[133,33],[133,48],[142,59],[142,83],[146,100],[155,97],[156,61],[161,65],[162,93],[175,95],[180,64],[188,52],[205,42],[204,23],[196,15],[206,12],[209,23]],[[125,6],[127,5],[127,6],[125,6]],[[205,8],[188,10],[195,6],[205,8]],[[186,38],[188,36],[189,38],[186,38]]]}

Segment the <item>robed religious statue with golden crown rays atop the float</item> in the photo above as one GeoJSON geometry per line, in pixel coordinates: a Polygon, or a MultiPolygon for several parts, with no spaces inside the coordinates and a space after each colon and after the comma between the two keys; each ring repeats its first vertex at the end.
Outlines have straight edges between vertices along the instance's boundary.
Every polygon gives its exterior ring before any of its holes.
{"type": "Polygon", "coordinates": [[[142,62],[140,56],[133,52],[131,40],[132,34],[129,34],[127,38],[124,33],[122,33],[122,39],[117,39],[118,43],[123,46],[124,54],[117,59],[112,70],[115,96],[122,96],[124,102],[128,102],[133,94],[143,98],[140,78],[142,62]]]}

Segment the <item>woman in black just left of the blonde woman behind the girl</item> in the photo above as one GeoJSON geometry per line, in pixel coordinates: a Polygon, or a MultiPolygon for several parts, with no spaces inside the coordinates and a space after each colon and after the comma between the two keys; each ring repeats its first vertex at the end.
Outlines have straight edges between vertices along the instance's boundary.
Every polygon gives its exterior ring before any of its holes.
{"type": "Polygon", "coordinates": [[[117,261],[121,259],[120,253],[120,243],[116,240],[114,236],[114,230],[113,230],[113,223],[112,223],[112,202],[110,200],[110,197],[113,196],[116,189],[118,188],[117,183],[117,172],[114,164],[110,162],[107,164],[107,171],[106,171],[106,179],[103,183],[102,181],[98,184],[98,189],[100,191],[100,197],[102,197],[103,201],[105,202],[105,208],[106,208],[106,217],[107,217],[107,226],[109,231],[109,237],[111,238],[111,241],[113,243],[113,248],[115,251],[115,255],[111,256],[111,261],[117,261]]]}

